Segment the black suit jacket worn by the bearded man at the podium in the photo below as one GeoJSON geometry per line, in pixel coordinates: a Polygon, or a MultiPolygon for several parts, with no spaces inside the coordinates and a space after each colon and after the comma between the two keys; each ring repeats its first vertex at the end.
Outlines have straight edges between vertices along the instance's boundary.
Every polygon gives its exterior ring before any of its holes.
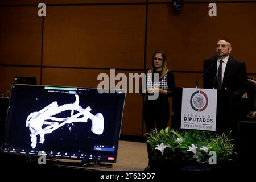
{"type": "MultiPolygon", "coordinates": [[[[210,67],[203,76],[203,85],[206,89],[217,88],[217,60],[217,56],[204,59],[204,71],[210,67]]],[[[229,56],[224,72],[222,89],[225,88],[233,90],[233,93],[239,96],[245,93],[247,88],[246,65],[232,56],[229,56]]]]}

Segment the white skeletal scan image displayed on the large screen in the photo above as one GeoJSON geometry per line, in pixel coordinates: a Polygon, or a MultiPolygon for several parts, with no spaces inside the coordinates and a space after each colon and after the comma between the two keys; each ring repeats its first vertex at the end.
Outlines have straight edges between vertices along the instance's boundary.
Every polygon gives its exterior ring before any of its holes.
{"type": "Polygon", "coordinates": [[[91,131],[94,134],[101,135],[104,130],[104,117],[101,113],[97,113],[93,115],[90,113],[92,109],[90,107],[86,107],[86,109],[82,108],[79,105],[79,96],[75,95],[76,101],[71,104],[64,104],[59,106],[57,102],[52,102],[48,106],[44,107],[42,110],[38,112],[33,112],[28,115],[26,120],[26,127],[30,129],[30,137],[31,137],[31,147],[35,148],[37,143],[37,135],[40,136],[39,143],[44,143],[44,135],[52,133],[52,131],[57,130],[59,127],[70,124],[73,122],[87,122],[88,118],[92,120],[91,131]],[[67,118],[57,118],[53,117],[53,115],[59,114],[63,111],[71,110],[70,117],[67,118]],[[74,111],[78,111],[77,114],[74,114],[74,111]],[[81,115],[83,115],[81,117],[81,115]],[[49,122],[52,120],[53,122],[49,122]],[[47,126],[46,126],[47,125],[47,126]]]}

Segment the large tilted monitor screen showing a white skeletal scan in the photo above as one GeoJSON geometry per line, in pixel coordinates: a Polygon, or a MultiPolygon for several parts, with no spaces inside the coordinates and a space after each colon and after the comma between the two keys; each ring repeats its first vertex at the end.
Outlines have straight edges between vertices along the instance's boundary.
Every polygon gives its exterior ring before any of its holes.
{"type": "Polygon", "coordinates": [[[1,151],[115,163],[125,91],[105,91],[13,84],[1,151]]]}

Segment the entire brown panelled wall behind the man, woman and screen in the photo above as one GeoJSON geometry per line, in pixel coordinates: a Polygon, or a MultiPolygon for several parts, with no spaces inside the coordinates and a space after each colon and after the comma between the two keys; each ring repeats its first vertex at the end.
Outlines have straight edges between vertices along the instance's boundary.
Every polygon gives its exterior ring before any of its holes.
{"type": "MultiPolygon", "coordinates": [[[[256,78],[256,1],[0,0],[0,93],[14,76],[38,84],[97,87],[99,73],[142,73],[152,53],[163,50],[176,85],[195,87],[203,59],[221,37],[256,78]],[[46,3],[46,17],[38,3],[46,3]],[[209,17],[209,3],[217,17],[209,17]]],[[[202,86],[202,80],[199,82],[202,86]]],[[[171,100],[170,100],[171,101],[171,100]]],[[[121,134],[143,135],[143,98],[127,94],[121,134]]]]}

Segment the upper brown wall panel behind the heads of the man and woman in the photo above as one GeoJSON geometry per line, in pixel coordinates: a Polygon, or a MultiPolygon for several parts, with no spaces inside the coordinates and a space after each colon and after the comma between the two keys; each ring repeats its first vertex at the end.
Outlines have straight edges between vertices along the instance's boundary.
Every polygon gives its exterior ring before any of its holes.
{"type": "Polygon", "coordinates": [[[232,55],[246,62],[248,72],[256,72],[251,60],[256,57],[255,9],[256,3],[221,3],[217,17],[210,18],[207,4],[188,4],[179,14],[172,5],[149,5],[146,67],[150,67],[152,52],[162,49],[171,69],[202,71],[203,59],[215,54],[217,40],[228,37],[233,42],[232,55]]]}

